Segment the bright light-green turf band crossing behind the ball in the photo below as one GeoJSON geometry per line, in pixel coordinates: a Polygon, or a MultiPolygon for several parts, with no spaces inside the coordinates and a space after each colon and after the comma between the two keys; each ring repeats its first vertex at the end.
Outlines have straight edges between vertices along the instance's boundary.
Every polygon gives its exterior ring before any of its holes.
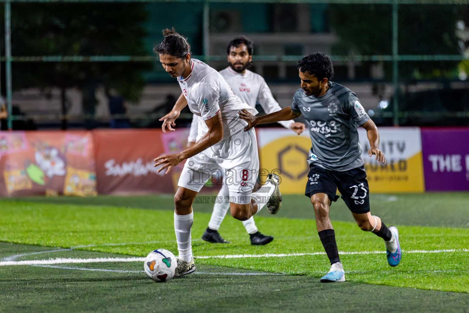
{"type": "MultiPolygon", "coordinates": [[[[0,241],[78,247],[135,256],[145,256],[155,248],[176,252],[171,210],[10,200],[2,200],[0,205],[0,241]]],[[[288,205],[286,207],[290,209],[288,205]]],[[[242,223],[230,216],[223,221],[220,232],[232,244],[202,241],[199,238],[209,218],[210,214],[194,214],[192,244],[196,256],[323,252],[314,220],[256,217],[257,227],[275,239],[265,246],[251,246],[242,223]]],[[[411,250],[467,249],[469,229],[398,225],[403,257],[398,267],[389,267],[382,239],[361,231],[354,222],[333,221],[333,225],[340,251],[383,251],[382,254],[342,255],[346,278],[350,282],[469,292],[469,268],[466,261],[469,252],[406,253],[411,250]]],[[[329,269],[325,255],[211,258],[198,259],[196,264],[309,277],[320,277],[329,269]]]]}

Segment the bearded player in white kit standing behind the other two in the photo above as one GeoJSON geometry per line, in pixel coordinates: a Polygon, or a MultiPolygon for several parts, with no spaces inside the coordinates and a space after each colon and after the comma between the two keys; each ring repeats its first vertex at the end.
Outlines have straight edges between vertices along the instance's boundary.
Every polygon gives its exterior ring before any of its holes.
{"type": "MultiPolygon", "coordinates": [[[[219,71],[221,76],[225,78],[230,85],[234,94],[241,102],[247,103],[250,107],[255,108],[257,101],[264,109],[266,114],[280,111],[281,107],[273,99],[272,92],[265,83],[262,76],[251,72],[248,68],[252,61],[252,52],[254,50],[253,42],[242,36],[234,38],[227,46],[228,67],[219,71]]],[[[188,147],[191,147],[197,141],[198,124],[204,123],[197,115],[194,114],[190,126],[188,147]]],[[[305,130],[305,126],[301,122],[281,121],[283,127],[301,134],[305,130]]],[[[259,187],[259,186],[257,186],[259,187]]],[[[212,216],[205,229],[202,239],[211,243],[229,243],[219,234],[218,230],[225,215],[229,209],[228,185],[223,184],[218,195],[217,201],[214,203],[212,216]],[[221,200],[221,201],[220,201],[221,200]]],[[[272,236],[265,236],[256,227],[254,217],[246,221],[242,221],[244,228],[250,235],[250,241],[253,245],[268,244],[273,240],[272,236]]]]}

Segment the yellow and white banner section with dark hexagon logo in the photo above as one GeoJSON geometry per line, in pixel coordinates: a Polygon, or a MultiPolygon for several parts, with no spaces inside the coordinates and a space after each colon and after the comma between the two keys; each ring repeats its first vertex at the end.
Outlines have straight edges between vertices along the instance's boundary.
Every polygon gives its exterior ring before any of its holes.
{"type": "Polygon", "coordinates": [[[308,131],[298,136],[285,128],[259,128],[256,133],[260,175],[279,174],[282,194],[304,194],[310,171],[306,161],[311,148],[308,131]]]}

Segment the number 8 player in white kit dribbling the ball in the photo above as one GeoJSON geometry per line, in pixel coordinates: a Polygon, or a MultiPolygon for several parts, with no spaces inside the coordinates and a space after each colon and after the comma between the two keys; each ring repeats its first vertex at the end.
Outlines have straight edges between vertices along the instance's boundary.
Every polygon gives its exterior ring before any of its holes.
{"type": "Polygon", "coordinates": [[[200,116],[197,142],[180,153],[163,155],[155,159],[158,172],[171,168],[187,159],[174,195],[174,231],[178,245],[178,267],[174,277],[195,271],[190,231],[194,221],[192,203],[208,179],[222,168],[226,174],[231,215],[245,221],[267,205],[269,213],[280,209],[279,177],[267,176],[264,188],[252,192],[259,170],[257,142],[254,130],[244,132],[247,122],[238,118],[245,109],[257,114],[255,108],[239,99],[231,91],[225,79],[202,61],[190,58],[190,46],[186,38],[168,29],[165,38],[154,52],[166,72],[176,78],[182,94],[173,110],[162,117],[163,132],[174,131],[175,120],[182,108],[189,106],[200,116]]]}

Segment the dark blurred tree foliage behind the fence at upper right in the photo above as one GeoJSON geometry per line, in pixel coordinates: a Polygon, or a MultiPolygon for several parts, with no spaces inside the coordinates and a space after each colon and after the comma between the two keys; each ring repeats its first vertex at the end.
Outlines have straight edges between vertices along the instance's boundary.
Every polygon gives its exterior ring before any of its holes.
{"type": "MultiPolygon", "coordinates": [[[[456,22],[467,6],[400,5],[398,11],[399,54],[459,54],[456,22]]],[[[333,54],[392,54],[391,5],[330,5],[331,28],[340,38],[333,54]]],[[[392,75],[385,62],[386,78],[392,75]]],[[[457,74],[457,62],[401,61],[402,79],[450,78],[457,74]]]]}

